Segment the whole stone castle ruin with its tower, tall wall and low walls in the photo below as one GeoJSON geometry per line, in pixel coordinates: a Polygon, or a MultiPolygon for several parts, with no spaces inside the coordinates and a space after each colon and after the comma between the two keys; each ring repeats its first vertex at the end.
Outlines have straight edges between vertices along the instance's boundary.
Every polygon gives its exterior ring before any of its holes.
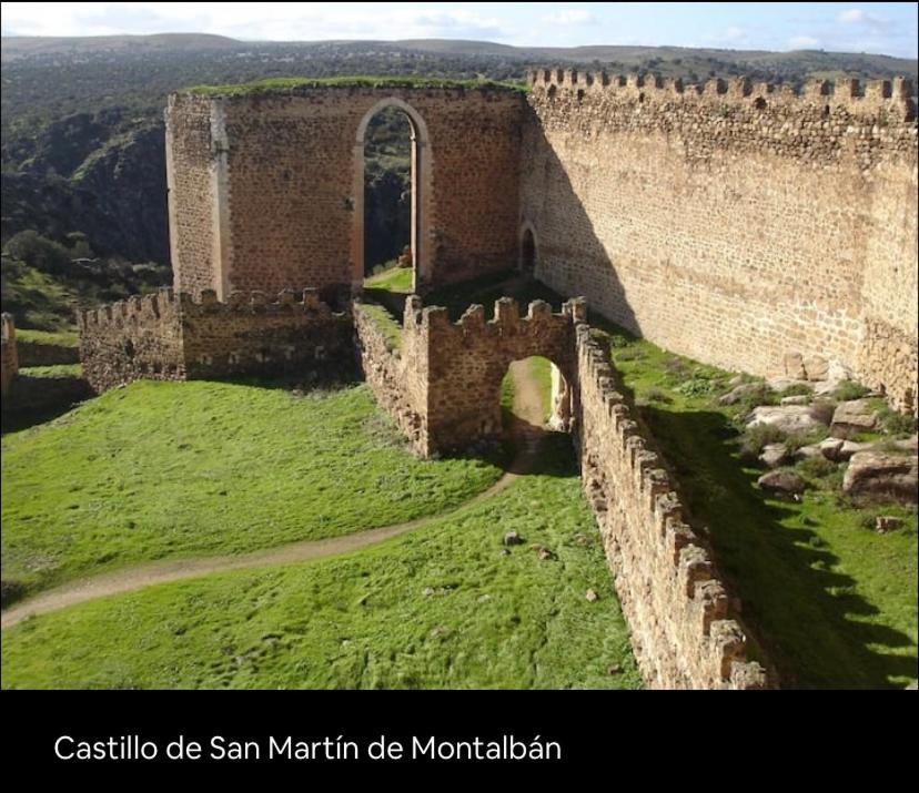
{"type": "Polygon", "coordinates": [[[185,92],[166,111],[175,291],[84,313],[97,389],[300,370],[356,355],[422,455],[499,427],[507,365],[556,367],[646,681],[760,688],[731,599],[643,437],[582,301],[458,323],[435,285],[516,264],[676,353],[759,375],[839,366],[917,409],[917,124],[907,81],[704,87],[536,70],[486,85],[185,92]],[[363,136],[413,130],[412,257],[396,353],[363,283],[363,136]],[[305,292],[304,292],[305,289],[305,292]],[[277,295],[269,298],[266,295],[277,295]],[[341,311],[333,311],[335,306],[341,311]]]}

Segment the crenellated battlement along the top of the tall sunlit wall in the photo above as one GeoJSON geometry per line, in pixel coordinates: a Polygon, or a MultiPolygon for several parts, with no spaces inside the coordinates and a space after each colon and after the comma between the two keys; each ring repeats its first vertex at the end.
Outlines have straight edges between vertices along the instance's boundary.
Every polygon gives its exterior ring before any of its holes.
{"type": "Polygon", "coordinates": [[[837,82],[811,80],[799,91],[791,85],[754,83],[748,78],[726,81],[715,78],[703,84],[684,84],[678,78],[657,74],[608,74],[578,72],[575,69],[531,69],[527,83],[535,91],[567,90],[586,95],[604,94],[624,100],[650,103],[687,102],[696,104],[741,106],[764,111],[801,111],[816,108],[819,112],[842,109],[854,116],[877,116],[887,112],[893,118],[911,121],[916,118],[912,82],[907,78],[837,82]]]}

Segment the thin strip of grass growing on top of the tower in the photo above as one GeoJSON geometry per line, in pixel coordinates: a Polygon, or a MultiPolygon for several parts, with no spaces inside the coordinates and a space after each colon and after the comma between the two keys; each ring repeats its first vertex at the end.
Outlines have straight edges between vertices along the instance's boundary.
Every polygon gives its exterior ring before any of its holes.
{"type": "Polygon", "coordinates": [[[497,82],[495,80],[446,80],[428,77],[336,77],[336,78],[269,78],[236,85],[194,85],[185,89],[189,93],[209,96],[241,96],[254,93],[290,93],[301,88],[437,88],[492,91],[516,91],[526,93],[523,83],[497,82]]]}

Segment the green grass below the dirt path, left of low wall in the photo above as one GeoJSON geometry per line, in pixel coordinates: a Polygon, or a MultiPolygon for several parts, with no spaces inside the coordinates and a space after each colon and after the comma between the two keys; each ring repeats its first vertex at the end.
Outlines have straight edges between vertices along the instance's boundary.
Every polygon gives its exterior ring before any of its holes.
{"type": "Polygon", "coordinates": [[[570,441],[551,444],[537,474],[376,548],[28,619],[3,687],[639,688],[570,441]]]}

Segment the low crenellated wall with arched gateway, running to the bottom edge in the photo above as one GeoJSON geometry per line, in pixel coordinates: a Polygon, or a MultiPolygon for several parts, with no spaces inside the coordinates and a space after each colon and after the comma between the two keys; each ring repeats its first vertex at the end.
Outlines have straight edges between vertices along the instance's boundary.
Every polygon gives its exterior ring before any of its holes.
{"type": "Polygon", "coordinates": [[[516,303],[502,298],[489,322],[482,306],[471,306],[451,323],[446,309],[411,296],[393,350],[362,306],[354,309],[367,383],[423,456],[499,433],[501,382],[511,363],[549,358],[568,386],[584,488],[645,680],[655,688],[763,688],[765,672],[746,660],[746,636],[729,617],[710,555],[684,522],[585,314],[583,299],[562,314],[536,301],[521,317],[516,303]]]}

